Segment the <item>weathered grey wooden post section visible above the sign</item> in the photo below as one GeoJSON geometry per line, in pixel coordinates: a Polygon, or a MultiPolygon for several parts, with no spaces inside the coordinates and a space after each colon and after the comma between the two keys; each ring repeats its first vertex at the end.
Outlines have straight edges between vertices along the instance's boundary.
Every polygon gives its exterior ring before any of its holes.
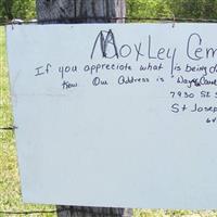
{"type": "Polygon", "coordinates": [[[125,0],[36,0],[43,23],[123,23],[125,0]]]}

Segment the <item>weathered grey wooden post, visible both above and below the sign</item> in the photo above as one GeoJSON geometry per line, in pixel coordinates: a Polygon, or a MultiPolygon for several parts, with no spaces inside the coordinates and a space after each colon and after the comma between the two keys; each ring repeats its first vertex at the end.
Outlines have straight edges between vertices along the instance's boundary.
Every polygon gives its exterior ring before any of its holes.
{"type": "MultiPolygon", "coordinates": [[[[40,23],[124,23],[125,0],[36,0],[40,23]]],[[[61,184],[61,183],[60,183],[61,184]]],[[[130,217],[132,209],[58,206],[59,217],[130,217]]]]}

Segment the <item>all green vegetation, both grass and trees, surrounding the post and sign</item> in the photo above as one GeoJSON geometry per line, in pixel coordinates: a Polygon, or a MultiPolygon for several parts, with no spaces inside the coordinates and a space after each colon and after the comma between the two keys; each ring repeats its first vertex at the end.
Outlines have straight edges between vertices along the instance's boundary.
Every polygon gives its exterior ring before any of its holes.
{"type": "MultiPolygon", "coordinates": [[[[127,0],[127,16],[217,20],[217,0],[127,0]]],[[[0,22],[35,17],[35,0],[0,0],[0,22]]],[[[13,125],[5,53],[5,31],[4,27],[0,27],[0,127],[13,125]]],[[[7,215],[1,212],[50,210],[54,208],[53,206],[24,205],[22,203],[14,135],[12,131],[0,131],[0,217],[26,216],[22,214],[7,215]]],[[[140,217],[190,215],[217,217],[215,210],[135,210],[135,216],[140,217]]],[[[30,216],[55,215],[31,214],[30,216]]]]}

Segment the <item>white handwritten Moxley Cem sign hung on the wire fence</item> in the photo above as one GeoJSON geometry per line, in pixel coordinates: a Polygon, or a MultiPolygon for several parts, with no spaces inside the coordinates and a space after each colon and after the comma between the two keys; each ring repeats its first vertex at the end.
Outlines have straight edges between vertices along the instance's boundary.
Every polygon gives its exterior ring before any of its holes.
{"type": "Polygon", "coordinates": [[[24,201],[217,208],[216,33],[8,26],[24,201]]]}

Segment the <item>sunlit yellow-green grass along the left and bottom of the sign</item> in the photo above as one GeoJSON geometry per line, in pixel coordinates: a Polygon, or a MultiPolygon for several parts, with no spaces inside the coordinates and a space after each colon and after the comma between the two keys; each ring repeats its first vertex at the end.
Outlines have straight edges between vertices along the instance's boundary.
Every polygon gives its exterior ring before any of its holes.
{"type": "MultiPolygon", "coordinates": [[[[0,128],[13,126],[10,85],[5,55],[5,31],[0,27],[0,128]]],[[[55,206],[24,204],[21,195],[14,133],[0,130],[0,217],[30,216],[54,217],[55,214],[7,215],[1,212],[53,210],[55,206]]],[[[135,209],[135,217],[217,217],[215,210],[163,210],[135,209]]]]}

